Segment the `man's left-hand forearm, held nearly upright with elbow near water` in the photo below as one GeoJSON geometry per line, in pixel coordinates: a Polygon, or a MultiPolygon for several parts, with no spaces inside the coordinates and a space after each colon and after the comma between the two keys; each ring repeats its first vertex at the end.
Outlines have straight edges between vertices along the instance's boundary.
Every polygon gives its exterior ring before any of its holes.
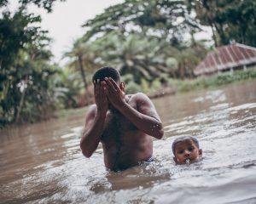
{"type": "Polygon", "coordinates": [[[84,130],[83,137],[80,142],[81,150],[86,157],[90,157],[96,150],[102,136],[106,114],[96,113],[93,125],[90,129],[84,130]]]}

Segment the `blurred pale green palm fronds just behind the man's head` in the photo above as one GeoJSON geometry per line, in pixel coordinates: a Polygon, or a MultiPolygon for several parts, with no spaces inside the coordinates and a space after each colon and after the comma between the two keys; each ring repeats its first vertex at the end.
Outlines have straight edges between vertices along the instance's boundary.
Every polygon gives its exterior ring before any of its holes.
{"type": "Polygon", "coordinates": [[[169,45],[157,37],[142,37],[138,34],[125,36],[113,31],[93,43],[96,49],[101,50],[104,64],[115,66],[122,75],[132,73],[138,83],[142,77],[153,81],[162,73],[170,72],[166,67],[169,45]]]}

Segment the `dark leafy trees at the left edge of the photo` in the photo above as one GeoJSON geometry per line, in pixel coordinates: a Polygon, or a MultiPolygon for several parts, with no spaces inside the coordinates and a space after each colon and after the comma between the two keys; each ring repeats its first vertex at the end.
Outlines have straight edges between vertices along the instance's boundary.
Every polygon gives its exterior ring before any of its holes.
{"type": "MultiPolygon", "coordinates": [[[[1,5],[6,5],[2,1],[1,5]]],[[[0,127],[10,122],[49,118],[55,108],[56,65],[50,64],[50,39],[40,28],[40,16],[20,6],[0,19],[0,127]]]]}

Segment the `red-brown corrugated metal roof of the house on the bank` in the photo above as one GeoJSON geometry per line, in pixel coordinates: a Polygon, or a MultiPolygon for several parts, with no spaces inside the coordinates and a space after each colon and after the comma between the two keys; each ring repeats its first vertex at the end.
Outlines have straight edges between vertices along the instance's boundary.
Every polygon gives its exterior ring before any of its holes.
{"type": "Polygon", "coordinates": [[[216,48],[195,67],[195,75],[210,74],[241,65],[256,63],[256,48],[232,44],[216,48]]]}

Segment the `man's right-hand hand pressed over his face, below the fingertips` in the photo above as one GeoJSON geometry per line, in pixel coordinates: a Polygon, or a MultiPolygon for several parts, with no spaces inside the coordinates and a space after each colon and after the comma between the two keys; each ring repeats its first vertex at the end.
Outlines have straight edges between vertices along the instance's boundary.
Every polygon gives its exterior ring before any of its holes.
{"type": "Polygon", "coordinates": [[[125,94],[112,78],[106,77],[108,101],[114,108],[121,108],[125,104],[125,94]]]}

